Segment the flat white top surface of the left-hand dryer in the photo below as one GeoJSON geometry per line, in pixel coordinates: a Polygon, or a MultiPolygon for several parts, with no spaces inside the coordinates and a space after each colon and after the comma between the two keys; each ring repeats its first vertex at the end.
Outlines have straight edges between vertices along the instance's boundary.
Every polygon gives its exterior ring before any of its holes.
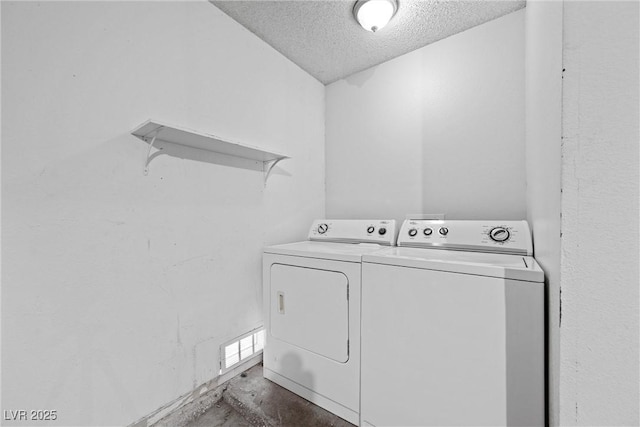
{"type": "Polygon", "coordinates": [[[334,261],[361,262],[364,254],[383,249],[375,243],[335,243],[335,242],[297,242],[284,245],[267,246],[266,254],[291,255],[307,258],[329,259],[334,261]]]}

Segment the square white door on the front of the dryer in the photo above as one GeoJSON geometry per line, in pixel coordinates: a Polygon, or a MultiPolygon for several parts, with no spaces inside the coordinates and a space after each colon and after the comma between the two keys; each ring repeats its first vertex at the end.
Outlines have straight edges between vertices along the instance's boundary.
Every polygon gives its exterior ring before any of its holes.
{"type": "Polygon", "coordinates": [[[347,362],[348,286],[347,276],[339,271],[272,264],[271,335],[336,362],[347,362]]]}

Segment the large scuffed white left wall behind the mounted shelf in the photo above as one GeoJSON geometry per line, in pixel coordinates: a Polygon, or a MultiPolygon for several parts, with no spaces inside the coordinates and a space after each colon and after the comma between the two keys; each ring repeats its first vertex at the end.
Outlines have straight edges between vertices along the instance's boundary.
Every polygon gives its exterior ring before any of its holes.
{"type": "Polygon", "coordinates": [[[2,2],[2,113],[2,409],[123,425],[215,377],[263,245],[324,215],[324,87],[205,1],[2,2]],[[292,160],[143,176],[150,117],[292,160]]]}

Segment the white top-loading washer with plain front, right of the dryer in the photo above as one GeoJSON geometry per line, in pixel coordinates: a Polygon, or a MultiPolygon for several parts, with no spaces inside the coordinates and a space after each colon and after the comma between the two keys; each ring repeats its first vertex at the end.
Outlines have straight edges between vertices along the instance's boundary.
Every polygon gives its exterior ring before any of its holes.
{"type": "Polygon", "coordinates": [[[363,256],[362,425],[544,425],[532,253],[524,221],[407,220],[363,256]]]}

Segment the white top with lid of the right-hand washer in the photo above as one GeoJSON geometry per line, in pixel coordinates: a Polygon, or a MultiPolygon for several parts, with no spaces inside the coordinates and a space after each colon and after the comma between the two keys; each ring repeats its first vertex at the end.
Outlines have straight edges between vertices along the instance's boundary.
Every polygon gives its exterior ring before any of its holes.
{"type": "Polygon", "coordinates": [[[543,282],[544,272],[532,257],[439,249],[387,248],[365,254],[362,262],[543,282]]]}

